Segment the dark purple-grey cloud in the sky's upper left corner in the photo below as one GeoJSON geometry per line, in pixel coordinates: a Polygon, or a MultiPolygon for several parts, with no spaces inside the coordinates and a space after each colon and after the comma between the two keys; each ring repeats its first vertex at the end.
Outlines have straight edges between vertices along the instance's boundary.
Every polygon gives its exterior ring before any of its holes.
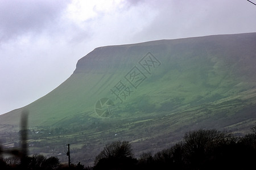
{"type": "Polygon", "coordinates": [[[1,1],[0,42],[24,33],[40,33],[59,18],[69,1],[1,1]]]}

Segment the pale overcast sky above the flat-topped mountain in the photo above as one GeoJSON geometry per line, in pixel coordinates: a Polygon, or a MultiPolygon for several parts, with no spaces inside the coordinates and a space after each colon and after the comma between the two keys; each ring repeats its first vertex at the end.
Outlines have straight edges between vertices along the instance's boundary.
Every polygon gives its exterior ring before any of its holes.
{"type": "Polygon", "coordinates": [[[98,46],[245,32],[256,32],[246,0],[0,0],[0,114],[48,94],[98,46]]]}

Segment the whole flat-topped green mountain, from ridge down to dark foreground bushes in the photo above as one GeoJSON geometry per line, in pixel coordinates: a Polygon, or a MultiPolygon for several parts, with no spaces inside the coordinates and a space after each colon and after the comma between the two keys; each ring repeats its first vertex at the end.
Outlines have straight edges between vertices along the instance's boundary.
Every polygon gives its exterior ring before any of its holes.
{"type": "Polygon", "coordinates": [[[69,129],[60,138],[94,155],[115,140],[158,150],[197,128],[244,134],[256,122],[255,47],[242,33],[96,48],[55,90],[1,115],[0,130],[27,110],[30,129],[69,129]]]}

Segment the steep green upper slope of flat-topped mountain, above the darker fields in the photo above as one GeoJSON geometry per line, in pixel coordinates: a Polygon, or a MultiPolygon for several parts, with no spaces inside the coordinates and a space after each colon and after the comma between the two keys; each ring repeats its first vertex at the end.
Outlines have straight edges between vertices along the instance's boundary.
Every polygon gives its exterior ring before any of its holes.
{"type": "MultiPolygon", "coordinates": [[[[117,104],[115,114],[143,112],[139,105],[151,107],[150,112],[172,112],[173,107],[238,97],[255,87],[255,39],[255,33],[249,33],[97,48],[80,59],[63,84],[22,109],[30,111],[31,126],[43,126],[75,114],[98,117],[94,105],[102,97],[117,104]],[[148,52],[159,61],[155,67],[147,66],[151,67],[150,74],[139,65],[148,52]],[[132,70],[134,66],[138,69],[132,70]],[[135,89],[126,78],[128,73],[138,74],[132,72],[138,70],[147,78],[135,89]],[[127,92],[130,96],[122,104],[110,91],[116,90],[119,80],[133,91],[127,92]]],[[[16,124],[20,110],[1,116],[1,124],[16,124]]]]}

